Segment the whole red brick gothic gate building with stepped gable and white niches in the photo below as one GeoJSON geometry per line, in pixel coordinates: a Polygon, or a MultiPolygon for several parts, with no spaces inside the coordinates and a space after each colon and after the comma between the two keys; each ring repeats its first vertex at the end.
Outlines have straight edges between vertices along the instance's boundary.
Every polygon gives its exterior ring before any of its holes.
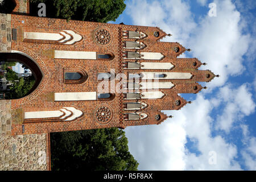
{"type": "Polygon", "coordinates": [[[171,117],[161,110],[188,103],[178,93],[198,93],[197,82],[215,77],[197,69],[198,59],[178,58],[189,49],[159,42],[171,35],[158,27],[1,17],[8,29],[0,57],[19,60],[36,78],[27,96],[8,101],[6,136],[158,125],[171,117]]]}

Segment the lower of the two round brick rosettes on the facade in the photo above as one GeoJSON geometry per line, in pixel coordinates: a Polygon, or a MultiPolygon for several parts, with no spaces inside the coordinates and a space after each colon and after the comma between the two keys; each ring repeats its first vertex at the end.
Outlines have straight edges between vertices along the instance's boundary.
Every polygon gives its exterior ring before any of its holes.
{"type": "Polygon", "coordinates": [[[99,105],[94,111],[94,117],[98,123],[105,125],[111,121],[113,117],[113,109],[106,104],[99,105]]]}

